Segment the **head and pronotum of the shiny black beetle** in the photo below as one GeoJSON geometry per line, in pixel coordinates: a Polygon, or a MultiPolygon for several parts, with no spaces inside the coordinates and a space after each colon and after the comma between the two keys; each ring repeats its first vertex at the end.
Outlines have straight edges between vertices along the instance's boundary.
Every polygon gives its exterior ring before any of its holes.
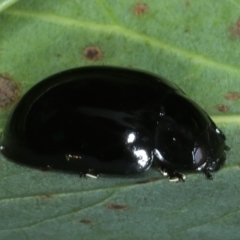
{"type": "Polygon", "coordinates": [[[184,95],[165,99],[155,132],[155,157],[175,170],[218,170],[225,136],[207,113],[184,95]]]}

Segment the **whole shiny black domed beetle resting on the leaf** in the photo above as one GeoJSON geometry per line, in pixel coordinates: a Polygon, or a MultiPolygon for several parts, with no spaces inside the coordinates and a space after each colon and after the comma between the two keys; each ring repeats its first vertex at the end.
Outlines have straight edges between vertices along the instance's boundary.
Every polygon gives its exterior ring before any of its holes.
{"type": "Polygon", "coordinates": [[[218,170],[225,136],[208,114],[159,76],[117,67],[67,70],[32,87],[12,111],[2,153],[34,167],[129,174],[153,161],[178,171],[218,170]]]}

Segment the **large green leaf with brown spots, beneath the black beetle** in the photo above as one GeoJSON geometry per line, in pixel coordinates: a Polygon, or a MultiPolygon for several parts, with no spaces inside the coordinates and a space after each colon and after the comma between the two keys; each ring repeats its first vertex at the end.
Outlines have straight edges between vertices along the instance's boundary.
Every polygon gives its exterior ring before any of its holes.
{"type": "Polygon", "coordinates": [[[154,72],[213,117],[231,151],[213,181],[189,173],[178,184],[154,169],[85,180],[2,156],[0,239],[239,239],[239,25],[238,1],[223,0],[22,0],[2,11],[0,75],[21,94],[78,66],[154,72]]]}

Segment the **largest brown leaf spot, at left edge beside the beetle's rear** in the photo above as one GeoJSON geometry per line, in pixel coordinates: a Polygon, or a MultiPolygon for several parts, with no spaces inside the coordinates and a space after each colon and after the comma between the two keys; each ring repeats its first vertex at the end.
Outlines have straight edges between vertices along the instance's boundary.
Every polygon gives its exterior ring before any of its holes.
{"type": "Polygon", "coordinates": [[[19,84],[7,75],[0,74],[0,109],[6,109],[20,97],[19,84]]]}

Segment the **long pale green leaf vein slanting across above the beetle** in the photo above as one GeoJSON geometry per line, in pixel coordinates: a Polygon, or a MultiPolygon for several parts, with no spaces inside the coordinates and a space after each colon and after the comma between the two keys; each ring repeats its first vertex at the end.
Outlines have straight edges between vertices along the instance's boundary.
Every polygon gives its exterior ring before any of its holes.
{"type": "Polygon", "coordinates": [[[173,53],[180,57],[191,59],[191,61],[195,64],[201,64],[201,65],[207,66],[208,68],[211,67],[211,68],[217,69],[218,71],[225,71],[228,73],[232,72],[232,73],[240,74],[239,66],[218,62],[204,55],[196,54],[196,53],[187,51],[185,49],[181,49],[179,47],[173,46],[166,42],[160,41],[159,39],[143,35],[142,33],[136,32],[122,25],[110,25],[110,24],[108,25],[108,24],[100,24],[96,22],[78,21],[68,17],[58,16],[58,15],[47,13],[47,12],[34,12],[34,11],[27,11],[27,10],[18,10],[14,8],[7,10],[5,13],[9,15],[15,15],[15,16],[20,16],[25,18],[26,17],[39,18],[43,21],[52,22],[54,24],[68,25],[68,26],[78,27],[78,28],[88,29],[88,30],[91,29],[93,31],[102,31],[106,33],[115,32],[116,35],[121,34],[126,38],[131,38],[132,40],[135,40],[135,41],[145,42],[145,43],[151,44],[155,48],[168,51],[169,53],[173,53]]]}

